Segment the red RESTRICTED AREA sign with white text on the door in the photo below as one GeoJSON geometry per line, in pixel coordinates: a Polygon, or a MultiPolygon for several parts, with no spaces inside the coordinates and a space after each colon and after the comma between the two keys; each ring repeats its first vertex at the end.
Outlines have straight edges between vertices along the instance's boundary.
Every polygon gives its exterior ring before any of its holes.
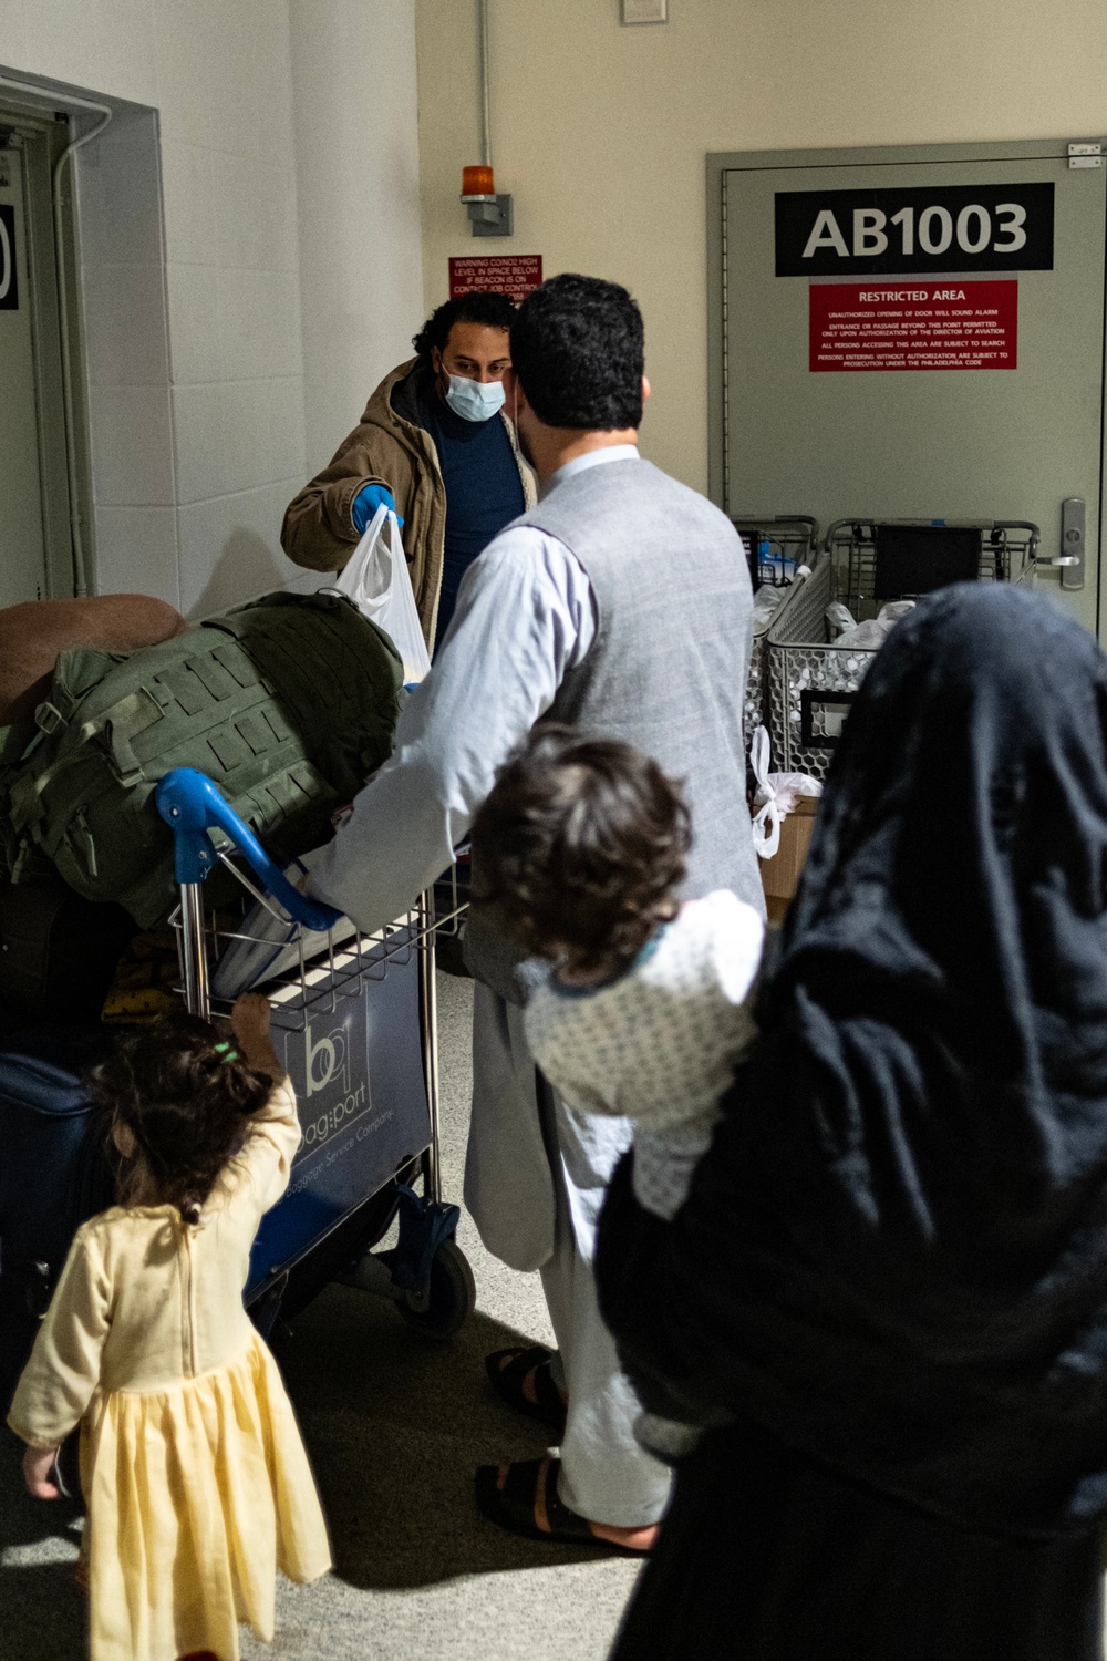
{"type": "Polygon", "coordinates": [[[1019,284],[812,282],[812,374],[1016,369],[1019,284]]]}

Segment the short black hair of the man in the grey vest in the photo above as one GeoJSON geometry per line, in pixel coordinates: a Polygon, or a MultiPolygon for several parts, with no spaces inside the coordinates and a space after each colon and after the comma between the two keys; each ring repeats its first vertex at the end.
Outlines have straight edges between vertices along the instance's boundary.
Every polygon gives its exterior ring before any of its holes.
{"type": "Polygon", "coordinates": [[[642,314],[617,282],[563,272],[528,294],[511,324],[511,367],[548,427],[639,427],[644,365],[642,314]]]}

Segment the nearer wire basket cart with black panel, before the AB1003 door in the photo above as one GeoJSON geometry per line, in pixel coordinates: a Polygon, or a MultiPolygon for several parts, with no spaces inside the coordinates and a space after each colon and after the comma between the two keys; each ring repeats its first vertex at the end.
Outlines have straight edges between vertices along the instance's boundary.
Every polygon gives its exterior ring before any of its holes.
{"type": "Polygon", "coordinates": [[[856,623],[888,600],[916,600],[949,581],[1032,581],[1041,532],[1024,520],[838,520],[813,571],[800,576],[765,636],[772,766],[827,777],[850,706],[876,656],[838,646],[827,608],[856,623]]]}

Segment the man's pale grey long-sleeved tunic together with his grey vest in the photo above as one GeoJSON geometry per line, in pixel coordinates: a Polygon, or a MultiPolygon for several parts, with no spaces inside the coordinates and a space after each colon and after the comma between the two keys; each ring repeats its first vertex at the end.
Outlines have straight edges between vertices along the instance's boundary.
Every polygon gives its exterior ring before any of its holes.
{"type": "MultiPolygon", "coordinates": [[[[576,713],[652,747],[689,779],[700,821],[689,894],[732,887],[762,907],[742,762],[749,638],[742,543],[717,508],[631,447],[569,462],[539,507],[466,573],[446,643],[400,719],[397,754],[358,796],[350,824],[309,859],[312,890],[367,930],[398,915],[448,864],[529,724],[576,713]],[[594,676],[581,678],[589,664],[594,676]]],[[[476,935],[470,922],[480,950],[476,935]]],[[[485,983],[518,1002],[514,957],[486,940],[485,958],[485,983]]],[[[516,1269],[536,1269],[553,1251],[554,1194],[516,1013],[478,997],[466,1199],[488,1247],[516,1269]]],[[[601,1121],[581,1126],[578,1139],[566,1183],[588,1254],[629,1131],[601,1121]]]]}

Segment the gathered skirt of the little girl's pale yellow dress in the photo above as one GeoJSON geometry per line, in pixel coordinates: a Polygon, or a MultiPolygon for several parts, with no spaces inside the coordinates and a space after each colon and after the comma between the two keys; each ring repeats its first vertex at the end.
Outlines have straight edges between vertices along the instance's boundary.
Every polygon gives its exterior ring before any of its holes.
{"type": "Polygon", "coordinates": [[[274,1633],[274,1571],[330,1568],[312,1470],[266,1344],[159,1390],[98,1392],[81,1422],[91,1661],[237,1661],[274,1633]]]}

